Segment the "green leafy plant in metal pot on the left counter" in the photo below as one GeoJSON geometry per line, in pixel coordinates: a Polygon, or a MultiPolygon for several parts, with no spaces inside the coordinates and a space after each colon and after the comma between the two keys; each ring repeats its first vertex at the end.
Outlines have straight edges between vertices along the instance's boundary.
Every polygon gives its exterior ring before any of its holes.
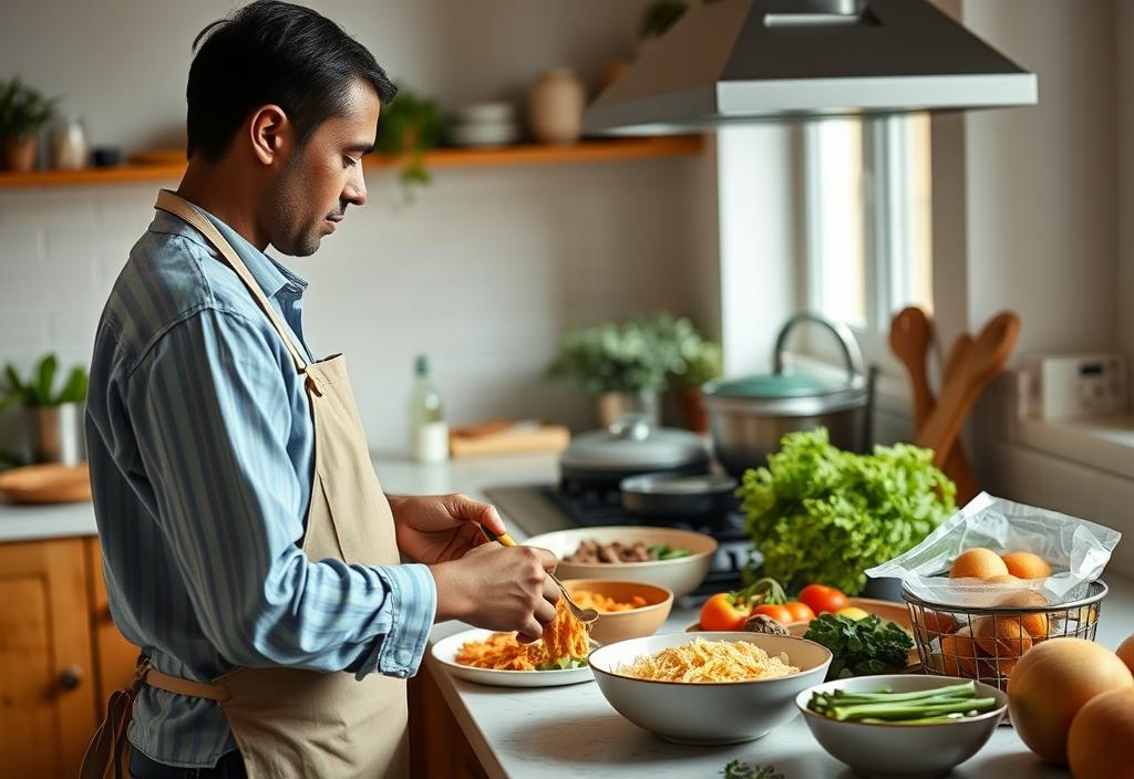
{"type": "Polygon", "coordinates": [[[59,392],[54,391],[59,360],[48,354],[36,365],[32,376],[22,379],[16,367],[5,366],[7,393],[0,397],[0,412],[23,404],[31,434],[32,459],[35,462],[61,462],[74,465],[86,459],[83,437],[83,404],[86,400],[87,374],[81,366],[71,368],[59,392]]]}

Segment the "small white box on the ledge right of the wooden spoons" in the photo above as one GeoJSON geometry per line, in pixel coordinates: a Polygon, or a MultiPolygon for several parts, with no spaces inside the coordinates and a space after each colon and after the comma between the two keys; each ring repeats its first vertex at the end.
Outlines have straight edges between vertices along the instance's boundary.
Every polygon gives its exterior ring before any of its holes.
{"type": "Polygon", "coordinates": [[[1120,354],[1035,354],[1024,359],[1027,413],[1075,419],[1126,411],[1126,358],[1120,354]]]}

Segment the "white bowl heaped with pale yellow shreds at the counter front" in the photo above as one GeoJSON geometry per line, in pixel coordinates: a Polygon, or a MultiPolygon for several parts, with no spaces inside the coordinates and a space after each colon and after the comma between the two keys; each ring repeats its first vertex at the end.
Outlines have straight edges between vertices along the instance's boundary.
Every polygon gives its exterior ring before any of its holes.
{"type": "Polygon", "coordinates": [[[591,653],[599,690],[618,713],[679,744],[737,744],[796,716],[795,696],[827,675],[831,653],[804,639],[678,633],[591,653]]]}

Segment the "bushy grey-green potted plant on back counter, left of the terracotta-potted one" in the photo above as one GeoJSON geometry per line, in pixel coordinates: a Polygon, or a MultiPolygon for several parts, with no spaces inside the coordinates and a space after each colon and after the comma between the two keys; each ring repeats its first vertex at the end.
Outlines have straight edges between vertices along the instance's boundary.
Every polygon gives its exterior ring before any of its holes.
{"type": "Polygon", "coordinates": [[[659,393],[671,374],[685,369],[675,337],[684,328],[678,322],[688,324],[661,314],[569,331],[548,373],[596,395],[602,425],[627,412],[657,423],[659,393]]]}

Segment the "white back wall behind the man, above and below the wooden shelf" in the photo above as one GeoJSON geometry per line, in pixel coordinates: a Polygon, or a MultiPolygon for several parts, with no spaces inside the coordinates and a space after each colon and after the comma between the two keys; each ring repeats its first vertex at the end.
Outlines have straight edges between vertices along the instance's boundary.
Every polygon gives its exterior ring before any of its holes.
{"type": "MultiPolygon", "coordinates": [[[[522,99],[561,63],[593,79],[632,51],[646,0],[311,3],[375,52],[403,85],[447,108],[522,99]]],[[[8,0],[0,76],[19,71],[66,96],[94,143],[127,149],[184,137],[194,35],[227,2],[8,0]]],[[[719,331],[712,156],[435,171],[400,204],[393,174],[369,176],[371,200],[312,258],[306,332],[344,351],[371,443],[398,450],[412,359],[433,360],[449,418],[548,417],[594,423],[590,400],[542,378],[569,325],[669,309],[719,331]],[[706,226],[708,225],[708,226],[706,226]]],[[[152,217],[159,186],[0,194],[0,361],[46,350],[85,361],[102,301],[152,217]]],[[[0,417],[0,448],[15,436],[0,417]]]]}

